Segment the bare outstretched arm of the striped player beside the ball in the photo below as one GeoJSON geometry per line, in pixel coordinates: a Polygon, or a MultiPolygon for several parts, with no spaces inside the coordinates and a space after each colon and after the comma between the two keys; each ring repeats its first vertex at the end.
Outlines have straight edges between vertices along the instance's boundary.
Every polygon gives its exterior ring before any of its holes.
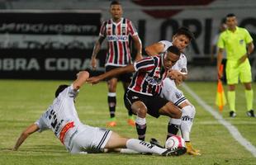
{"type": "Polygon", "coordinates": [[[133,73],[135,72],[135,67],[133,64],[127,65],[126,67],[121,67],[121,68],[115,68],[112,69],[111,71],[107,73],[103,73],[99,76],[88,78],[87,82],[92,83],[92,84],[97,84],[97,82],[100,82],[101,80],[105,78],[111,78],[113,76],[117,76],[119,74],[123,73],[133,73]]]}

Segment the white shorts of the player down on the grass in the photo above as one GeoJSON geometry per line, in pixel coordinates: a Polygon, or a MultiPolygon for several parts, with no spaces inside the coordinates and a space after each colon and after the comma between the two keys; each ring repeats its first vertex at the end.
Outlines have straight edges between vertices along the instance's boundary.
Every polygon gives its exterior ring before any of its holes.
{"type": "Polygon", "coordinates": [[[84,125],[85,129],[75,134],[70,140],[70,153],[98,153],[111,137],[111,130],[84,125]]]}

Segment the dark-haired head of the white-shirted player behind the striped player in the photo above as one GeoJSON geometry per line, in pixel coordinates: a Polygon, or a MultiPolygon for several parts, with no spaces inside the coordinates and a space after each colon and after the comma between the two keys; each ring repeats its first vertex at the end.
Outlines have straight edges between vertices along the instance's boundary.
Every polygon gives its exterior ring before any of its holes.
{"type": "Polygon", "coordinates": [[[194,39],[193,33],[187,27],[181,27],[173,35],[173,45],[177,46],[179,50],[183,50],[192,39],[194,39]]]}

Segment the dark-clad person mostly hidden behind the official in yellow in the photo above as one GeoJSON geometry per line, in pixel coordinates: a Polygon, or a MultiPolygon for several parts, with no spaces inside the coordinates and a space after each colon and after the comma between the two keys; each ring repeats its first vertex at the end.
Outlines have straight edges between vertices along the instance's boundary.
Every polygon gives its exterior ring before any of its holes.
{"type": "MultiPolygon", "coordinates": [[[[217,54],[217,42],[219,40],[220,33],[225,31],[226,28],[227,28],[227,26],[225,25],[225,20],[221,21],[218,34],[216,34],[214,36],[212,43],[211,43],[211,62],[214,61],[216,54],[217,54]]],[[[221,78],[221,80],[222,80],[222,82],[224,82],[226,84],[226,74],[225,74],[226,53],[225,52],[223,52],[221,64],[223,65],[223,72],[222,72],[223,77],[221,78]]]]}

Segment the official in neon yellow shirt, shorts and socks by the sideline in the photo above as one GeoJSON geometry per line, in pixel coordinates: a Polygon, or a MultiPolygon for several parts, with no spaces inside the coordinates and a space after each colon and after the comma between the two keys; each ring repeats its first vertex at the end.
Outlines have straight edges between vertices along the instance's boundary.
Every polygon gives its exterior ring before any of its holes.
{"type": "Polygon", "coordinates": [[[249,32],[237,26],[236,16],[228,14],[225,20],[227,30],[220,34],[218,40],[217,72],[220,73],[220,64],[225,49],[227,54],[226,78],[228,84],[228,101],[230,105],[230,117],[235,117],[235,85],[239,82],[244,83],[246,98],[246,114],[255,117],[253,110],[254,91],[252,89],[252,73],[249,64],[249,55],[254,51],[254,43],[249,32]]]}

